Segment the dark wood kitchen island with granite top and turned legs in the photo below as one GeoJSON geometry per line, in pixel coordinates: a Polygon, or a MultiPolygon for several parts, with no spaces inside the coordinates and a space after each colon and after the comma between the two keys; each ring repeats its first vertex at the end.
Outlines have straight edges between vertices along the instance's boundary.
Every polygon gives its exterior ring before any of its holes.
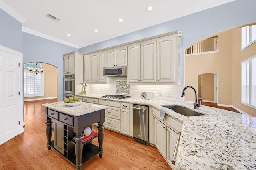
{"type": "Polygon", "coordinates": [[[43,104],[46,117],[46,136],[48,150],[53,148],[64,158],[82,169],[82,164],[99,154],[103,154],[103,123],[105,121],[106,107],[82,102],[78,106],[69,107],[64,102],[43,104]],[[52,127],[54,123],[54,127],[52,127]],[[84,129],[92,128],[98,123],[98,133],[86,142],[82,142],[84,129]],[[52,139],[54,132],[54,140],[52,139]],[[99,146],[92,144],[92,139],[98,137],[99,146]]]}

